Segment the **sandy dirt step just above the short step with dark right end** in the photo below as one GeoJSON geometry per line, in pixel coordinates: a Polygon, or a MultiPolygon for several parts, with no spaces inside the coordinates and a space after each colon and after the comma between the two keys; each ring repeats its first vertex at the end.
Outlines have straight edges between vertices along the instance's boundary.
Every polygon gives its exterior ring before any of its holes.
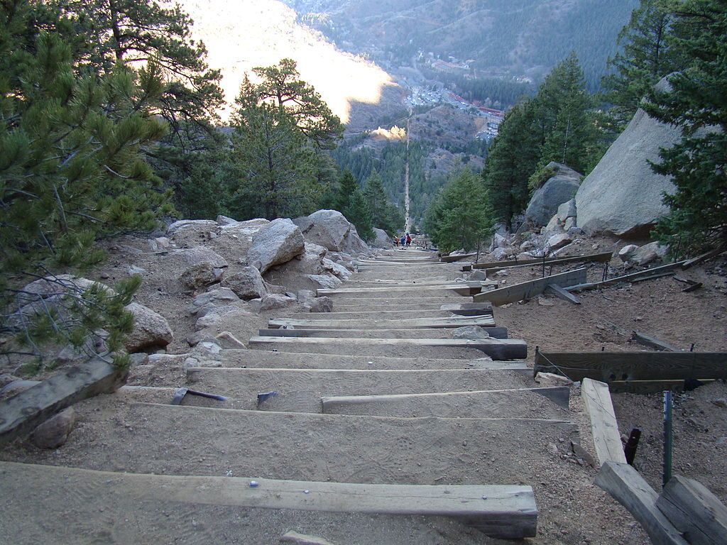
{"type": "Polygon", "coordinates": [[[248,400],[249,409],[321,412],[321,397],[340,395],[416,394],[512,389],[531,385],[524,374],[489,369],[445,371],[365,371],[191,368],[185,386],[248,400]],[[257,395],[278,392],[257,403],[257,395]]]}

